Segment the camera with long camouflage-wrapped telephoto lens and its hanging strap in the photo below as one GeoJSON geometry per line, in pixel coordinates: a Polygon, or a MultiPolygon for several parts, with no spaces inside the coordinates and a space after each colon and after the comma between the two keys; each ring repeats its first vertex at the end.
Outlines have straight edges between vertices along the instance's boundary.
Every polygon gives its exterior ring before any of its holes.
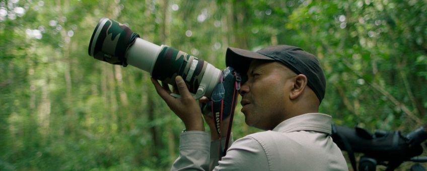
{"type": "MultiPolygon", "coordinates": [[[[102,18],[98,22],[88,51],[90,56],[98,60],[122,66],[130,64],[171,85],[175,85],[177,75],[182,76],[194,99],[202,96],[210,98],[210,103],[202,106],[201,111],[205,115],[212,114],[219,137],[221,121],[230,116],[230,135],[241,83],[240,74],[232,67],[220,70],[178,49],[156,45],[139,38],[126,25],[108,18],[102,18]]],[[[228,136],[227,142],[229,138],[228,136]]]]}

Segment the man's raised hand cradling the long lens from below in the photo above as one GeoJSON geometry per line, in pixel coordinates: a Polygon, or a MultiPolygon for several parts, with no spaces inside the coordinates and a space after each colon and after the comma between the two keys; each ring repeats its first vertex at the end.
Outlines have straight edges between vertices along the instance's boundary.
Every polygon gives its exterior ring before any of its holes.
{"type": "Polygon", "coordinates": [[[153,81],[157,94],[162,97],[169,108],[182,120],[182,122],[184,122],[187,131],[204,131],[200,107],[191,96],[181,76],[175,77],[176,87],[178,89],[177,93],[181,95],[181,98],[175,98],[170,95],[171,91],[168,84],[162,83],[162,88],[159,81],[154,78],[151,78],[151,80],[153,81]]]}

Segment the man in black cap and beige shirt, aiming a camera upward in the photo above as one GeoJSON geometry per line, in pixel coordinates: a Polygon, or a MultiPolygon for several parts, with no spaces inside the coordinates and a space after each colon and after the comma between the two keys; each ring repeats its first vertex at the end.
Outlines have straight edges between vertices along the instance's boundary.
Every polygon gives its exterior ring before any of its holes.
{"type": "MultiPolygon", "coordinates": [[[[217,163],[220,142],[211,131],[214,141],[209,146],[200,108],[184,80],[176,78],[177,99],[153,79],[158,94],[186,127],[172,170],[348,170],[329,136],[331,117],[318,113],[326,82],[314,55],[288,45],[257,52],[228,48],[226,64],[246,78],[240,90],[246,124],[266,131],[236,140],[217,163]]],[[[211,118],[205,120],[215,130],[211,118]]]]}

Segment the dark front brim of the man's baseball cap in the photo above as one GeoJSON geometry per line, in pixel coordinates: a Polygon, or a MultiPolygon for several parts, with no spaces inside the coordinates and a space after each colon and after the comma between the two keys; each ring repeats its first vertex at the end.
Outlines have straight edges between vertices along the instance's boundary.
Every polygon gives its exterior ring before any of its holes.
{"type": "Polygon", "coordinates": [[[259,54],[257,52],[252,52],[250,50],[234,47],[227,48],[226,66],[233,67],[241,75],[246,75],[252,59],[274,60],[273,58],[259,54]]]}

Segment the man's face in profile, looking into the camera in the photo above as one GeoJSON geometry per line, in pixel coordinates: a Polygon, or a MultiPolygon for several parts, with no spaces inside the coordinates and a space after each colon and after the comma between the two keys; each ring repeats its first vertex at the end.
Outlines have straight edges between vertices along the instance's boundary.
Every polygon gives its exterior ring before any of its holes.
{"type": "Polygon", "coordinates": [[[242,85],[242,112],[249,126],[271,130],[286,119],[292,70],[279,62],[252,60],[242,85]]]}

